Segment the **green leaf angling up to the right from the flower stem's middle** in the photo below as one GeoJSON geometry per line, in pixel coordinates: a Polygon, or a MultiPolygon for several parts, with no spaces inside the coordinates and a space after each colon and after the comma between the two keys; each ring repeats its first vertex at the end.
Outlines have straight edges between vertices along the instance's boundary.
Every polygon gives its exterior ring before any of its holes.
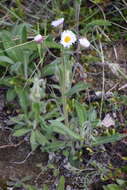
{"type": "Polygon", "coordinates": [[[75,86],[73,86],[65,95],[72,96],[73,94],[80,92],[82,90],[88,89],[90,87],[89,84],[84,82],[79,82],[75,86]]]}

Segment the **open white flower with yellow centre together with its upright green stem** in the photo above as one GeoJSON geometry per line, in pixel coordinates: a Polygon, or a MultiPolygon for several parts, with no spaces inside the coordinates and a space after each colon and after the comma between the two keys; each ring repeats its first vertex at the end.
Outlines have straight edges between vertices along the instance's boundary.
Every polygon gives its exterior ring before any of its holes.
{"type": "Polygon", "coordinates": [[[77,41],[76,35],[71,30],[64,30],[61,33],[60,44],[63,46],[61,48],[61,60],[62,64],[59,71],[59,83],[62,95],[62,104],[63,104],[63,115],[65,118],[65,125],[67,127],[69,124],[69,115],[68,115],[68,103],[67,103],[67,91],[72,86],[72,61],[71,55],[68,53],[68,49],[77,41]]]}

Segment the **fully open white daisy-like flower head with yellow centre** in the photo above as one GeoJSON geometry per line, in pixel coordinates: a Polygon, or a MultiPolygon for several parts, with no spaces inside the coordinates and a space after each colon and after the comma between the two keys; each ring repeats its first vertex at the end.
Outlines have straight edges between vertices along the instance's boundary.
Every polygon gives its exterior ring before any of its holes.
{"type": "Polygon", "coordinates": [[[76,42],[76,35],[72,31],[65,30],[62,32],[60,43],[64,47],[69,48],[75,42],[76,42]]]}

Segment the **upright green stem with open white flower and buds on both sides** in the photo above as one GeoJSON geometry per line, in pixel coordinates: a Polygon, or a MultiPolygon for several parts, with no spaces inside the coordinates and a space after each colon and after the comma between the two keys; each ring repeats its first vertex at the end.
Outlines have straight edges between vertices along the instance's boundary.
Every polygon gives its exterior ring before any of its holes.
{"type": "MultiPolygon", "coordinates": [[[[64,19],[61,18],[59,20],[53,21],[51,25],[53,27],[58,27],[61,24],[63,25],[63,22],[64,19]]],[[[64,115],[65,125],[67,127],[70,127],[66,93],[72,87],[72,78],[73,78],[72,67],[74,64],[74,57],[73,53],[72,54],[69,53],[69,48],[73,47],[73,45],[78,40],[76,34],[71,30],[61,31],[61,28],[59,28],[59,31],[61,32],[60,34],[61,39],[59,43],[62,46],[61,46],[61,66],[59,68],[59,74],[57,75],[57,77],[59,77],[59,85],[60,85],[62,107],[63,107],[62,111],[64,115]]],[[[88,48],[90,46],[90,42],[86,38],[80,38],[78,43],[85,48],[88,48]]]]}

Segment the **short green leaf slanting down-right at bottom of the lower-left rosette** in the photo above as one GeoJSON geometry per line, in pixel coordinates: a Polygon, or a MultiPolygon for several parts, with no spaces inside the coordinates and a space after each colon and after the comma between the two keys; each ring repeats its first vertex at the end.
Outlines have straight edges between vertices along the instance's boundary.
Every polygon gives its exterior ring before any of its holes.
{"type": "Polygon", "coordinates": [[[36,141],[41,144],[41,145],[45,145],[48,144],[49,141],[47,140],[47,138],[39,131],[39,130],[35,130],[35,136],[36,136],[36,141]]]}

